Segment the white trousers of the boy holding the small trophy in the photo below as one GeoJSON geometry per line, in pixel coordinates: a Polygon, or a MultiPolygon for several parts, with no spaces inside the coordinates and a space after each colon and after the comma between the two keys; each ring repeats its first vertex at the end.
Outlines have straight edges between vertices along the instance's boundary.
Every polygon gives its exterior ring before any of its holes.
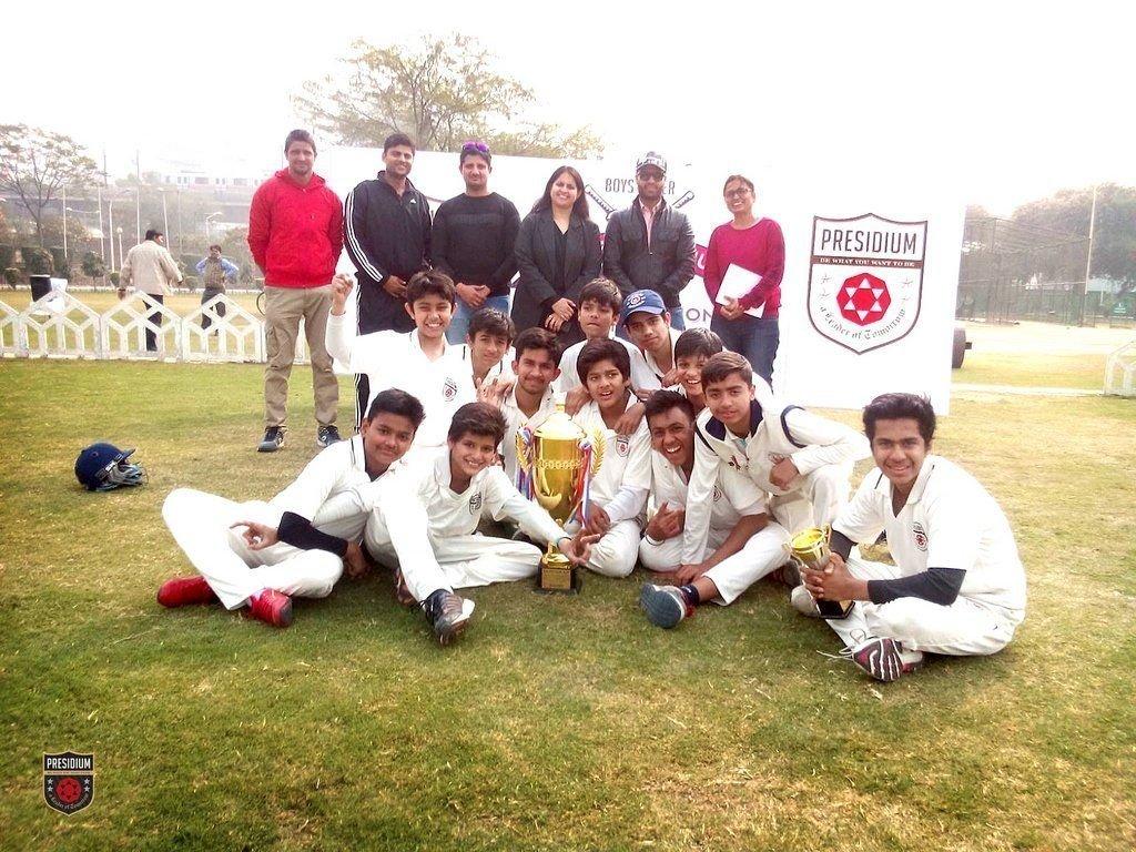
{"type": "MultiPolygon", "coordinates": [[[[854,553],[849,571],[859,579],[895,579],[893,565],[869,562],[854,553]]],[[[845,618],[828,619],[828,626],[852,648],[869,636],[893,638],[909,651],[929,651],[957,657],[993,654],[1013,638],[1017,621],[1006,612],[957,598],[944,607],[922,598],[896,598],[888,603],[857,601],[845,618]]]]}

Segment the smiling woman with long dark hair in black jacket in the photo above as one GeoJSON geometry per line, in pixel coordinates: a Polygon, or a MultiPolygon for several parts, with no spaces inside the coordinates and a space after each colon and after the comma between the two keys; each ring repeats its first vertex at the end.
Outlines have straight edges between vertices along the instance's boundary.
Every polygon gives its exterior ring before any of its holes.
{"type": "Polygon", "coordinates": [[[541,326],[565,346],[584,340],[576,316],[579,291],[599,277],[603,258],[579,172],[561,166],[552,173],[520,223],[513,252],[520,269],[512,298],[517,333],[541,326]]]}

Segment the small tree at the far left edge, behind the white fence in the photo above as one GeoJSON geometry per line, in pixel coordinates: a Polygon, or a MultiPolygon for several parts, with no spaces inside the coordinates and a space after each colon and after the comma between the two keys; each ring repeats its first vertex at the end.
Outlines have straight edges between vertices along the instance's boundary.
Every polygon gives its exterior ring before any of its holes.
{"type": "Polygon", "coordinates": [[[97,177],[94,160],[70,136],[26,124],[0,125],[0,187],[19,198],[41,247],[44,208],[64,187],[80,189],[97,177]]]}

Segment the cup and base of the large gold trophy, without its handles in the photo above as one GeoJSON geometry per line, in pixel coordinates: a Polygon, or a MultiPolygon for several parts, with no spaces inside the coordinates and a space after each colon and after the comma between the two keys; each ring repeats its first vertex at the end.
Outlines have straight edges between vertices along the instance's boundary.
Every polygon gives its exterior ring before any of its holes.
{"type": "MultiPolygon", "coordinates": [[[[533,496],[561,527],[579,504],[580,483],[585,475],[585,454],[580,441],[586,433],[563,412],[549,415],[533,435],[533,496]]],[[[537,588],[542,592],[578,592],[579,574],[568,557],[550,544],[541,557],[537,588]]]]}

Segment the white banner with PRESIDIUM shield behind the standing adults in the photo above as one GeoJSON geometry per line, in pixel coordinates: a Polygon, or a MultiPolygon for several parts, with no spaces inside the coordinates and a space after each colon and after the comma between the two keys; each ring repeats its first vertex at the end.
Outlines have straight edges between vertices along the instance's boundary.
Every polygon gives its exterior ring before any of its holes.
{"type": "MultiPolygon", "coordinates": [[[[524,217],[563,162],[583,175],[602,233],[608,216],[635,198],[634,156],[494,157],[490,189],[524,217]]],[[[332,148],[317,160],[341,198],[382,167],[377,149],[332,148]]],[[[964,212],[955,187],[937,185],[934,175],[864,174],[838,152],[830,164],[803,170],[670,161],[665,195],[691,219],[700,273],[710,234],[730,218],[721,193],[734,173],[757,184],[754,212],[776,219],[785,235],[775,390],[800,404],[830,408],[860,408],[877,394],[911,391],[946,414],[964,212]]],[[[419,152],[410,179],[435,210],[463,190],[453,153],[419,152]]],[[[340,268],[354,270],[345,252],[340,268]]],[[[687,326],[710,324],[700,274],[682,299],[687,326]]]]}

